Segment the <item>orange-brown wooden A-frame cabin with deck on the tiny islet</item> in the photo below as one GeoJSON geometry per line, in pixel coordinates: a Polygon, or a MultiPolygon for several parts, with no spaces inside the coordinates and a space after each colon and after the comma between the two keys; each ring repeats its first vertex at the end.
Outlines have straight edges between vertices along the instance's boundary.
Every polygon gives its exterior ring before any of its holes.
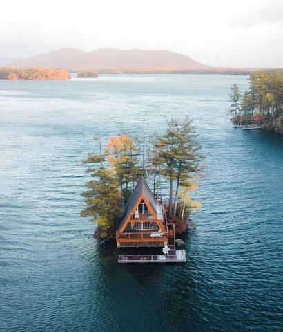
{"type": "Polygon", "coordinates": [[[155,198],[142,176],[126,203],[116,232],[117,247],[164,247],[175,242],[174,225],[167,224],[165,212],[162,198],[155,198]]]}

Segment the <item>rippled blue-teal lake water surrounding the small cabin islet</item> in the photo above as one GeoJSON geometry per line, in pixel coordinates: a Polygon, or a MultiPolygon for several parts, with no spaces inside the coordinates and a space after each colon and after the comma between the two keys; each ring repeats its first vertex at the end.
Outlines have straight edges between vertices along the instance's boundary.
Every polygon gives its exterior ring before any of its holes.
{"type": "Polygon", "coordinates": [[[0,330],[283,331],[283,138],[233,129],[228,75],[0,81],[0,330]],[[118,265],[82,219],[92,136],[194,119],[206,155],[186,264],[118,265]]]}

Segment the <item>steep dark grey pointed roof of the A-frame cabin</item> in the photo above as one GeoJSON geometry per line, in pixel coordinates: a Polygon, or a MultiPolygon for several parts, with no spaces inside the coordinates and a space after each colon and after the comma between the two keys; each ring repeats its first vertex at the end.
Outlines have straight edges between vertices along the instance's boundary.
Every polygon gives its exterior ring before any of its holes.
{"type": "Polygon", "coordinates": [[[130,197],[126,203],[125,214],[123,219],[121,220],[120,228],[121,225],[124,225],[125,221],[128,219],[128,216],[130,216],[130,214],[132,213],[133,209],[135,208],[135,205],[137,204],[137,201],[140,199],[142,195],[144,195],[145,199],[153,207],[155,213],[158,213],[155,196],[153,196],[153,192],[148,187],[148,184],[146,183],[144,176],[141,176],[139,178],[137,186],[135,187],[135,190],[132,192],[132,194],[130,194],[130,197]]]}

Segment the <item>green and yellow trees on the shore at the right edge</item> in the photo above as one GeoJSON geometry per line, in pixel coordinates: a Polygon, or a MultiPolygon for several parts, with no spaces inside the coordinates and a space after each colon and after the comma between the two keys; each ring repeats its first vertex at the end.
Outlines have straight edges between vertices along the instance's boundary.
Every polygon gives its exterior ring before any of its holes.
{"type": "Polygon", "coordinates": [[[231,87],[231,112],[237,124],[260,124],[262,129],[283,133],[283,70],[259,71],[250,77],[249,89],[231,87]]]}

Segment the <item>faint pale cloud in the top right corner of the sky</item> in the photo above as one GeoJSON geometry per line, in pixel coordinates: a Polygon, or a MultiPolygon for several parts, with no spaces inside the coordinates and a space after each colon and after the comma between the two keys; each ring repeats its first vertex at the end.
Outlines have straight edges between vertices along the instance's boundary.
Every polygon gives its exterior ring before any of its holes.
{"type": "Polygon", "coordinates": [[[254,3],[253,8],[230,21],[231,26],[249,28],[259,24],[283,24],[282,0],[274,0],[258,6],[254,3]]]}

